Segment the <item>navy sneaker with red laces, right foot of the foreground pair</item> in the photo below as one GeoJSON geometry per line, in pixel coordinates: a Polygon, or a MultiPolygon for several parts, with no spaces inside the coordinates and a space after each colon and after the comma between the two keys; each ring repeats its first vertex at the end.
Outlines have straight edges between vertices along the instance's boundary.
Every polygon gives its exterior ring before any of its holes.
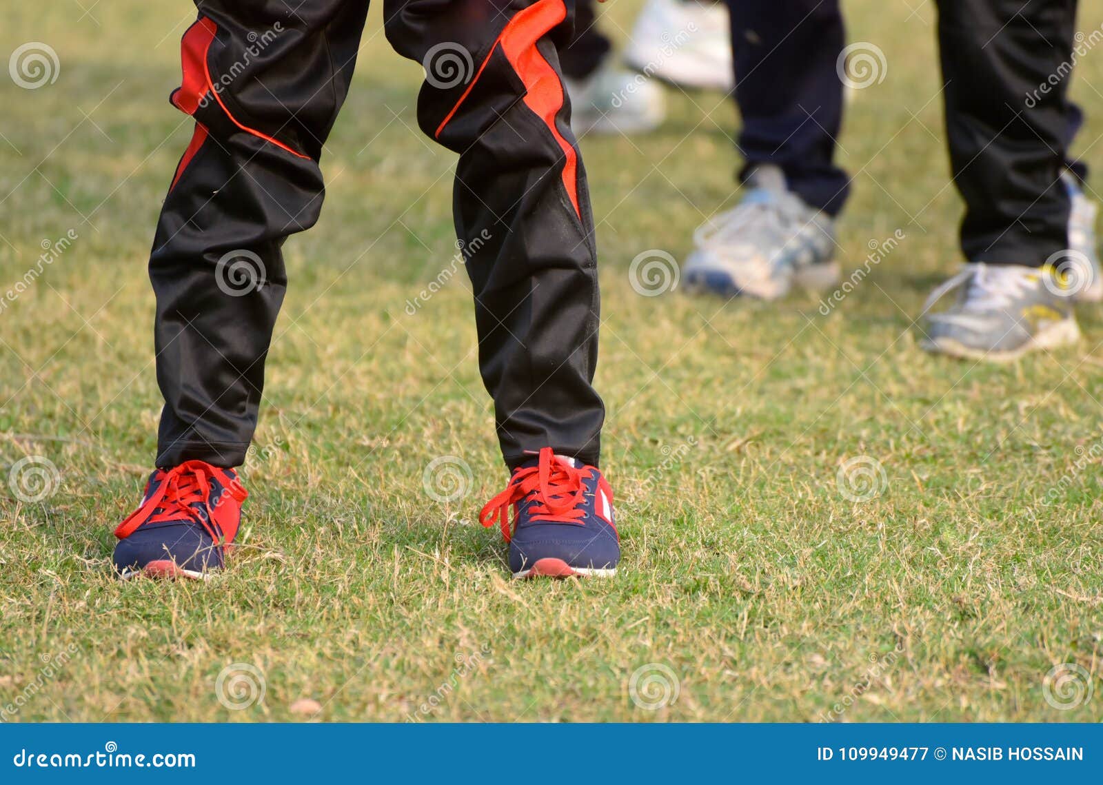
{"type": "Polygon", "coordinates": [[[513,471],[505,491],[488,502],[479,521],[502,527],[514,578],[617,573],[620,535],[612,488],[597,466],[579,465],[552,448],[513,471]]]}

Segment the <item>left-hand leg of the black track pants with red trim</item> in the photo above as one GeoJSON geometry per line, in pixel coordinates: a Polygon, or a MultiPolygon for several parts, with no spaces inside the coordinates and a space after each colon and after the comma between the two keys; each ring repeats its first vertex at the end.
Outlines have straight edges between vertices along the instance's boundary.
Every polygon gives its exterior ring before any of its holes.
{"type": "Polygon", "coordinates": [[[280,246],[318,219],[318,159],[367,2],[199,0],[172,103],[196,120],[157,226],[157,465],[236,466],[257,420],[287,279],[280,246]]]}

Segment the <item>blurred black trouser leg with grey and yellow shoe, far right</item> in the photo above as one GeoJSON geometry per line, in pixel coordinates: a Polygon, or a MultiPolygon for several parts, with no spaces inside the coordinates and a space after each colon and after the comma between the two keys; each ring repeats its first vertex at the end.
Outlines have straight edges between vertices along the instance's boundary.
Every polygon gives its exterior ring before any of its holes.
{"type": "Polygon", "coordinates": [[[1084,236],[1093,234],[1094,206],[1068,152],[1080,122],[1068,99],[1075,14],[1077,0],[939,3],[946,140],[965,202],[967,264],[924,307],[959,292],[929,319],[922,345],[930,351],[1013,359],[1080,336],[1072,301],[1095,295],[1099,270],[1094,239],[1084,236]]]}

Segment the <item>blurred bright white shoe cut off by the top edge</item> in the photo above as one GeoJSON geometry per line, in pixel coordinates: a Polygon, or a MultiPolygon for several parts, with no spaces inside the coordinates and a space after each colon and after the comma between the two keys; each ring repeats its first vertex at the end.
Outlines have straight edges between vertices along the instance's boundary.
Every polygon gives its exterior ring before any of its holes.
{"type": "Polygon", "coordinates": [[[731,29],[722,2],[649,0],[624,53],[641,74],[692,89],[735,87],[731,29]]]}

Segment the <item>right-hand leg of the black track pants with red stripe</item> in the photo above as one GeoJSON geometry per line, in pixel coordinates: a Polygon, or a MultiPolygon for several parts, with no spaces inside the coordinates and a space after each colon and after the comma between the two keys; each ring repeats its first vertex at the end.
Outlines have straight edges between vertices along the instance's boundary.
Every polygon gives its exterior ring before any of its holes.
{"type": "Polygon", "coordinates": [[[567,6],[386,0],[384,13],[395,49],[426,68],[421,129],[460,153],[456,230],[506,463],[550,447],[597,464],[593,221],[555,49],[567,6]]]}

